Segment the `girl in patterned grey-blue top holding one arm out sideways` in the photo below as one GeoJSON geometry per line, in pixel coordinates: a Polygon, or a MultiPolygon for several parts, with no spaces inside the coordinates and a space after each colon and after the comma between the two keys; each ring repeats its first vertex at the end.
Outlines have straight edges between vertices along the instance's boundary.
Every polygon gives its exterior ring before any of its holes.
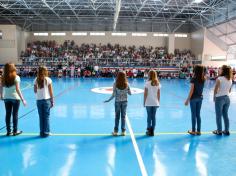
{"type": "Polygon", "coordinates": [[[125,136],[125,117],[126,117],[126,109],[128,103],[128,94],[131,95],[130,87],[128,84],[128,80],[126,78],[126,74],[124,72],[119,72],[116,78],[116,82],[113,85],[113,93],[112,96],[105,101],[105,103],[111,101],[115,98],[115,127],[114,132],[112,132],[113,136],[118,135],[119,121],[121,118],[121,130],[122,136],[125,136]]]}

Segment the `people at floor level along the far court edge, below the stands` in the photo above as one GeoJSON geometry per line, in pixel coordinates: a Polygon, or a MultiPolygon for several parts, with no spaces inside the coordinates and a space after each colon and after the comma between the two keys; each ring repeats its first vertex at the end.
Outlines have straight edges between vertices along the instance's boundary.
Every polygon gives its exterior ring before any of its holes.
{"type": "MultiPolygon", "coordinates": [[[[18,74],[22,77],[35,77],[37,74],[37,66],[18,66],[18,74]]],[[[127,77],[129,78],[147,78],[148,72],[151,68],[145,67],[99,67],[98,65],[91,66],[87,64],[86,66],[75,67],[74,65],[58,67],[48,67],[49,74],[51,77],[65,78],[111,78],[116,77],[119,71],[125,71],[127,77]]],[[[193,76],[193,66],[183,66],[180,71],[160,71],[160,68],[152,68],[157,71],[158,77],[161,79],[189,79],[193,76]]],[[[215,80],[218,77],[219,68],[216,67],[206,67],[205,74],[211,79],[215,80]]],[[[0,75],[2,69],[0,68],[0,75]]],[[[236,69],[233,68],[233,82],[236,83],[236,69]]]]}

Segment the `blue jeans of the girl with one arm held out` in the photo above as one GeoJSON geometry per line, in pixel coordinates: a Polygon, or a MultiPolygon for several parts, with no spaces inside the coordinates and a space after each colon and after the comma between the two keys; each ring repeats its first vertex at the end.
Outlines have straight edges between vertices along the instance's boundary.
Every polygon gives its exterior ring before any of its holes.
{"type": "Polygon", "coordinates": [[[119,121],[121,118],[121,130],[125,131],[125,117],[126,117],[127,102],[115,102],[115,127],[114,131],[118,132],[119,121]]]}

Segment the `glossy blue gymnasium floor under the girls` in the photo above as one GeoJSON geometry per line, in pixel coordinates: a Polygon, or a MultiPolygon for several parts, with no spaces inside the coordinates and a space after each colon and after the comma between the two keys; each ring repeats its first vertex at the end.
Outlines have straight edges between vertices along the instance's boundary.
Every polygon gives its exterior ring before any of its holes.
{"type": "MultiPolygon", "coordinates": [[[[143,88],[143,79],[129,80],[143,88]]],[[[19,128],[24,134],[5,137],[1,128],[1,176],[233,176],[236,175],[236,88],[231,94],[230,137],[209,133],[216,128],[212,90],[208,81],[202,108],[202,136],[189,136],[190,109],[183,105],[188,80],[161,80],[161,107],[157,112],[157,136],[145,137],[146,111],[143,95],[129,98],[128,121],[135,135],[110,136],[114,125],[110,95],[91,92],[111,86],[113,79],[55,79],[56,105],[51,111],[53,136],[38,137],[38,115],[32,79],[22,79],[28,106],[20,108],[19,128]],[[234,132],[233,132],[234,131],[234,132]]],[[[4,127],[0,104],[0,127],[4,127]]],[[[130,133],[130,130],[127,130],[130,133]]]]}

